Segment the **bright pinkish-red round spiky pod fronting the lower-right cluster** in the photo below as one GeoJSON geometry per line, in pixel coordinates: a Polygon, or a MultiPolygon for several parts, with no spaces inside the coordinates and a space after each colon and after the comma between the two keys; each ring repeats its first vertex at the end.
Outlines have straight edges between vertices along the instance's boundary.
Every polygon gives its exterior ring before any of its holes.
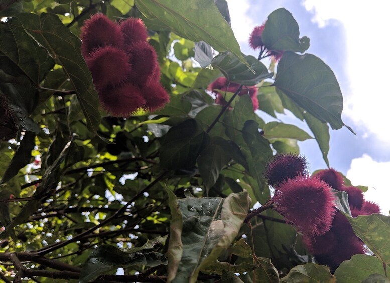
{"type": "Polygon", "coordinates": [[[300,176],[278,186],[273,198],[277,211],[305,235],[329,231],[335,214],[333,195],[325,182],[300,176]]]}

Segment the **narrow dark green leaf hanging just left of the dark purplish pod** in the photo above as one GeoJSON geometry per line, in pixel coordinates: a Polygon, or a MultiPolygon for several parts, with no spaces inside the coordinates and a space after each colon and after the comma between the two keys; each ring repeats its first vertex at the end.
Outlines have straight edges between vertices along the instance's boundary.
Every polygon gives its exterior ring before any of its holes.
{"type": "Polygon", "coordinates": [[[266,165],[271,160],[272,150],[269,142],[262,137],[259,133],[258,124],[253,120],[245,122],[242,129],[242,136],[245,140],[247,147],[249,148],[251,159],[248,160],[249,171],[253,178],[256,179],[258,187],[257,189],[262,194],[262,199],[257,199],[261,203],[264,203],[268,197],[265,195],[264,187],[266,181],[263,177],[266,165]]]}

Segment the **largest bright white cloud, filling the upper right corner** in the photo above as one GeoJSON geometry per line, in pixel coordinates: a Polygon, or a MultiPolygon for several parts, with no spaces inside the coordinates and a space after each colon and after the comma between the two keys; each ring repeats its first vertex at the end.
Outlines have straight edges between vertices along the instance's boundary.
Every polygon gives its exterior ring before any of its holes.
{"type": "MultiPolygon", "coordinates": [[[[385,130],[390,93],[388,91],[388,11],[390,2],[372,0],[369,3],[338,0],[305,0],[313,22],[324,27],[330,20],[340,21],[346,35],[346,70],[350,92],[344,93],[344,113],[357,126],[390,142],[385,130]]],[[[340,50],[345,47],[340,46],[340,50]]]]}

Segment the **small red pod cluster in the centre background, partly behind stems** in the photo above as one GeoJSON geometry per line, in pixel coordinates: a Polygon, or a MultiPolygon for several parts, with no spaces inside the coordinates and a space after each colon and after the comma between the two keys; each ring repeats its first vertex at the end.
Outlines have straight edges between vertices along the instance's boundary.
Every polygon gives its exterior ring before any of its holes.
{"type": "MultiPolygon", "coordinates": [[[[209,84],[207,89],[215,93],[216,95],[215,103],[226,105],[227,102],[224,98],[225,93],[226,92],[235,93],[239,87],[240,84],[229,82],[225,77],[220,77],[216,79],[214,82],[212,82],[211,84],[209,84]]],[[[256,87],[249,88],[244,86],[242,90],[238,93],[238,95],[243,96],[244,94],[249,94],[250,99],[252,100],[253,110],[256,110],[258,109],[257,93],[258,90],[256,87]]]]}

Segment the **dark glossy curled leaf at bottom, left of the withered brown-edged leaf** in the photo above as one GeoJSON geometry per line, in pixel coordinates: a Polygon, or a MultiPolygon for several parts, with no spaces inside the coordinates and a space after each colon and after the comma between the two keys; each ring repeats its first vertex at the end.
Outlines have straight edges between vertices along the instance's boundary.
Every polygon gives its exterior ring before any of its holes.
{"type": "Polygon", "coordinates": [[[142,247],[121,249],[112,245],[101,245],[89,255],[80,273],[80,283],[94,281],[99,275],[119,267],[142,265],[155,267],[166,265],[164,255],[156,250],[164,245],[165,237],[158,237],[148,241],[142,247]]]}

